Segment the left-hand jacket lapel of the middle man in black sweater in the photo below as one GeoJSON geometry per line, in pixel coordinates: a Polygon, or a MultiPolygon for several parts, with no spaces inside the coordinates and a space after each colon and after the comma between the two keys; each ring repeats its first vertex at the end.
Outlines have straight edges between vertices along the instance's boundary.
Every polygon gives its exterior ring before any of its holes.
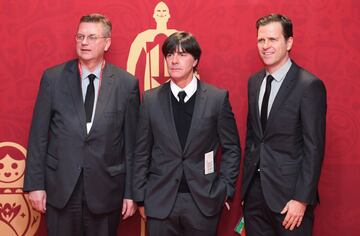
{"type": "Polygon", "coordinates": [[[163,112],[170,137],[173,139],[174,143],[176,143],[178,151],[182,152],[179,136],[176,131],[174,113],[171,105],[170,82],[165,83],[164,86],[161,88],[161,91],[159,92],[159,104],[161,106],[161,111],[163,112]]]}

